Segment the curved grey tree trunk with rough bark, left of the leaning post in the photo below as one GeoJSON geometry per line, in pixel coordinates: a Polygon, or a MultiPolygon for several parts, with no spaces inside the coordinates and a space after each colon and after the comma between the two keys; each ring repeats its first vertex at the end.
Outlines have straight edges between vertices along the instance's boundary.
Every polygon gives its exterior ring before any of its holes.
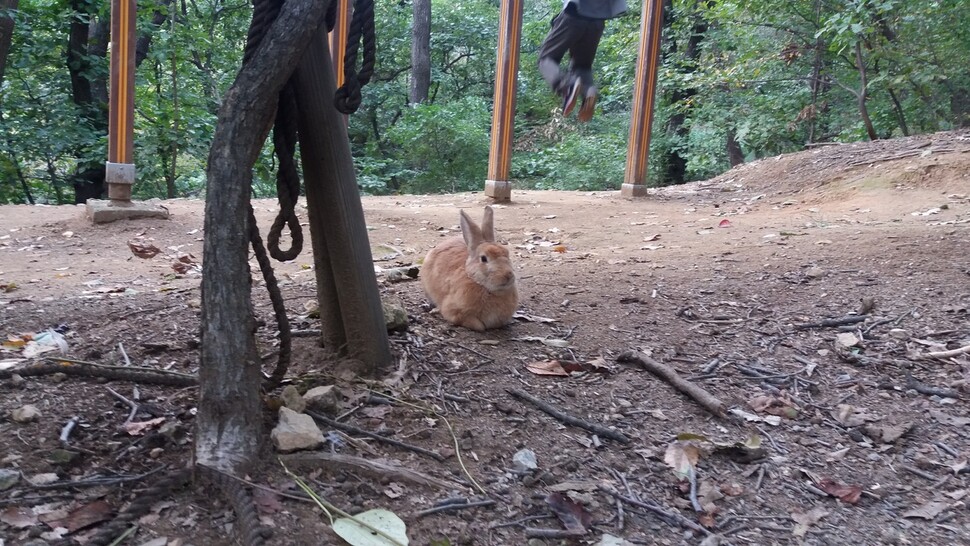
{"type": "Polygon", "coordinates": [[[238,474],[263,437],[249,271],[252,167],[280,90],[328,2],[289,0],[226,93],[209,152],[202,268],[202,355],[195,459],[238,474]]]}

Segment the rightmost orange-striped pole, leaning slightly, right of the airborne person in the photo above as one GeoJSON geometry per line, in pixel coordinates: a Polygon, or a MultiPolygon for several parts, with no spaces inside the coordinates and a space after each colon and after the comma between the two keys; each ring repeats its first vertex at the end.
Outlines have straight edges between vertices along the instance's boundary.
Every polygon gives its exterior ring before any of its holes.
{"type": "Polygon", "coordinates": [[[663,0],[643,0],[640,15],[640,49],[637,52],[636,82],[633,85],[633,114],[630,143],[626,153],[626,173],[620,195],[647,195],[647,164],[650,159],[650,124],[653,122],[657,91],[657,66],[660,63],[660,34],[663,25],[663,0]]]}

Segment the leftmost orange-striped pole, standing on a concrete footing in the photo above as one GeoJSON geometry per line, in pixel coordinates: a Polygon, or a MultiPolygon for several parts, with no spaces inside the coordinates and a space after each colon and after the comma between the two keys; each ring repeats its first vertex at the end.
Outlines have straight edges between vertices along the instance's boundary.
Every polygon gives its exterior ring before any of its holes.
{"type": "Polygon", "coordinates": [[[111,84],[108,94],[108,198],[131,201],[135,183],[135,0],[111,0],[111,84]]]}

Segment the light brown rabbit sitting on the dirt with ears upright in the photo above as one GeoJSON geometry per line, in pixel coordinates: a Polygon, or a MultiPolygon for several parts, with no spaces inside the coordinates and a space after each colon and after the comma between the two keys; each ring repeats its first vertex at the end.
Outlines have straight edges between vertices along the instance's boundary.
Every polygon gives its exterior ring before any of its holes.
{"type": "Polygon", "coordinates": [[[431,249],[421,282],[445,320],[471,330],[505,326],[519,306],[509,251],[495,243],[492,207],[479,228],[461,211],[461,237],[431,249]]]}

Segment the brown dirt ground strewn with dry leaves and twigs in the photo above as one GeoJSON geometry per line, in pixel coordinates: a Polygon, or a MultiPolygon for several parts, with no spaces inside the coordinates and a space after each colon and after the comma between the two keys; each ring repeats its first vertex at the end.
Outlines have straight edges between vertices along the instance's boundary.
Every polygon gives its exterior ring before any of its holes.
{"type": "MultiPolygon", "coordinates": [[[[429,311],[418,281],[383,271],[417,263],[443,229],[457,229],[459,209],[480,217],[487,203],[480,193],[364,198],[382,294],[403,302],[410,325],[391,338],[396,373],[371,386],[384,397],[341,384],[337,413],[445,458],[326,426],[322,451],[450,486],[336,464],[291,468],[330,503],[387,508],[412,544],[970,543],[970,132],[820,147],[638,200],[514,191],[495,216],[523,316],[476,333],[429,311]],[[731,412],[715,416],[618,361],[631,350],[731,412]],[[551,361],[570,372],[533,371],[551,361]],[[566,424],[510,389],[608,432],[566,424]],[[513,461],[521,450],[535,469],[513,461]],[[455,497],[492,503],[420,513],[455,497]],[[529,538],[566,525],[588,532],[529,538]]],[[[192,387],[11,377],[60,354],[38,354],[51,329],[72,359],[197,371],[200,275],[171,265],[181,254],[201,260],[203,204],[164,205],[168,220],[107,225],[81,207],[0,207],[0,544],[54,543],[60,528],[83,543],[163,467],[190,458],[192,387]],[[162,253],[141,259],[129,242],[162,253]],[[130,422],[109,389],[137,395],[130,422]],[[15,422],[25,405],[40,415],[15,422]]],[[[256,210],[265,233],[275,202],[256,210]]],[[[301,330],[319,328],[307,311],[311,265],[308,251],[276,264],[301,330]]],[[[271,355],[277,331],[261,281],[253,293],[260,350],[271,355]]],[[[332,381],[315,339],[295,340],[301,388],[332,381]]],[[[266,437],[253,441],[268,443],[266,413],[266,437]]],[[[293,498],[274,455],[252,481],[282,493],[255,490],[270,543],[340,543],[320,510],[293,498]]],[[[220,495],[189,486],[154,503],[124,543],[235,544],[236,523],[220,495]]]]}

